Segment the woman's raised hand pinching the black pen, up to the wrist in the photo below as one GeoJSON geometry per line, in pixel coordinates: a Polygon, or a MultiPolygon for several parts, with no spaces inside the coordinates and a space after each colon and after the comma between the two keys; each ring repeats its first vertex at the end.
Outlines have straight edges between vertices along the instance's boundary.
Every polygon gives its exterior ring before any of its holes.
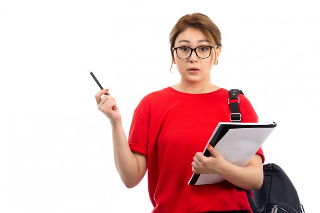
{"type": "Polygon", "coordinates": [[[111,124],[116,124],[121,122],[121,115],[119,113],[115,98],[110,96],[108,90],[109,89],[100,90],[95,97],[98,104],[98,109],[108,117],[111,124]],[[107,93],[107,95],[101,98],[105,93],[107,93]]]}

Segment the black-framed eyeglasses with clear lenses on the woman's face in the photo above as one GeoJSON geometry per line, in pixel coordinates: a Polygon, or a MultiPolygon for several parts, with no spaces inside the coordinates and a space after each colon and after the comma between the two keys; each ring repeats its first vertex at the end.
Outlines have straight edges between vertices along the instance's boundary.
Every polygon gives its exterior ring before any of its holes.
{"type": "MultiPolygon", "coordinates": [[[[216,48],[218,47],[218,45],[216,45],[216,48]]],[[[211,55],[211,49],[213,48],[213,46],[198,46],[197,48],[189,48],[189,46],[180,46],[178,48],[172,48],[172,50],[175,50],[177,53],[177,56],[179,59],[188,59],[191,54],[192,51],[196,52],[196,55],[199,58],[209,58],[209,56],[211,55]]]]}

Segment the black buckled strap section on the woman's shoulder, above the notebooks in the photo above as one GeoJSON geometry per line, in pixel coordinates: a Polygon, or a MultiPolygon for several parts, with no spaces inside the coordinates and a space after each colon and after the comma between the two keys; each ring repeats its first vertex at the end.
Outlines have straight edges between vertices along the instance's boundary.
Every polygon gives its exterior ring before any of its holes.
{"type": "Polygon", "coordinates": [[[241,114],[239,110],[240,98],[238,94],[243,94],[242,90],[231,89],[229,90],[228,105],[231,111],[230,121],[231,122],[241,122],[241,114]]]}

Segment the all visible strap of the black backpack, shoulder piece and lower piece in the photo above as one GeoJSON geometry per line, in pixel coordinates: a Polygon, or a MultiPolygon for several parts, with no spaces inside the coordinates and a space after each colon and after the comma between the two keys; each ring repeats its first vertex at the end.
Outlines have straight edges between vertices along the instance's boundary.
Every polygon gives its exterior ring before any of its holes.
{"type": "MultiPolygon", "coordinates": [[[[241,114],[240,114],[240,110],[239,110],[239,103],[240,103],[240,98],[238,97],[238,95],[243,94],[242,90],[239,89],[231,89],[229,90],[229,98],[228,98],[228,105],[230,108],[230,121],[231,122],[241,122],[241,114]]],[[[250,208],[252,209],[252,211],[254,213],[259,213],[258,209],[255,205],[254,200],[252,199],[249,191],[245,190],[245,194],[247,195],[249,204],[250,204],[250,208]]]]}

